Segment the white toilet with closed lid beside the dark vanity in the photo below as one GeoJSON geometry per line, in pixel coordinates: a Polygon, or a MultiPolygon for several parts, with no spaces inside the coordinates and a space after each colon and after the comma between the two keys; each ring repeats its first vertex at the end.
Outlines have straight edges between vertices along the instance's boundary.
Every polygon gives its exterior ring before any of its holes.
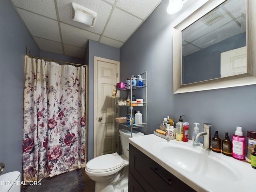
{"type": "MultiPolygon", "coordinates": [[[[122,155],[105,154],[88,161],[85,172],[95,181],[95,192],[128,192],[129,138],[131,129],[120,129],[122,155]]],[[[132,130],[132,137],[144,135],[132,130]]]]}

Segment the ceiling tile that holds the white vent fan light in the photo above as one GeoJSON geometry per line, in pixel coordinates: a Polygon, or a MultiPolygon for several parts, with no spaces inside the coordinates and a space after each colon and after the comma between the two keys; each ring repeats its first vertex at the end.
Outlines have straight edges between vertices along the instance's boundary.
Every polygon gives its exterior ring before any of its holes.
{"type": "Polygon", "coordinates": [[[108,16],[112,10],[112,6],[106,2],[103,2],[102,0],[57,0],[57,5],[61,22],[77,26],[79,28],[83,28],[98,34],[102,33],[108,20],[108,16]],[[96,21],[93,27],[73,21],[71,19],[71,2],[84,6],[97,13],[96,21]]]}

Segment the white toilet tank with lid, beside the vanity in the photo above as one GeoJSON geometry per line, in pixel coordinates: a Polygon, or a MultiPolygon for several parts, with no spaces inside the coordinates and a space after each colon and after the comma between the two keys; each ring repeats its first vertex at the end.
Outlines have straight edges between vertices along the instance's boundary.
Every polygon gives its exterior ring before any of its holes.
{"type": "MultiPolygon", "coordinates": [[[[129,157],[129,151],[127,150],[129,148],[129,138],[131,137],[131,129],[120,129],[120,139],[121,139],[121,146],[123,150],[123,154],[128,158],[129,157]]],[[[136,130],[132,130],[132,137],[138,137],[142,136],[144,133],[138,132],[136,130]]]]}

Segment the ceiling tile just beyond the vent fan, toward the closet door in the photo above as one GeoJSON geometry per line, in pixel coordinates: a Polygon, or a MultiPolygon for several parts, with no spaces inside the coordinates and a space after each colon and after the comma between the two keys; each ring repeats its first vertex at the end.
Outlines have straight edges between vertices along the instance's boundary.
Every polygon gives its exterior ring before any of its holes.
{"type": "Polygon", "coordinates": [[[98,41],[100,36],[92,32],[60,23],[63,43],[85,48],[88,39],[98,41]]]}

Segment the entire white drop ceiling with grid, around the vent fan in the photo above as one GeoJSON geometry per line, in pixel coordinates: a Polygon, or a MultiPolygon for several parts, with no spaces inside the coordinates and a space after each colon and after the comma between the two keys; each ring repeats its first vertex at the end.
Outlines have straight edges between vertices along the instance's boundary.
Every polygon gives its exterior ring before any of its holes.
{"type": "Polygon", "coordinates": [[[83,58],[88,39],[120,48],[162,0],[10,0],[40,50],[83,58]],[[71,2],[97,12],[73,21],[71,2]]]}

